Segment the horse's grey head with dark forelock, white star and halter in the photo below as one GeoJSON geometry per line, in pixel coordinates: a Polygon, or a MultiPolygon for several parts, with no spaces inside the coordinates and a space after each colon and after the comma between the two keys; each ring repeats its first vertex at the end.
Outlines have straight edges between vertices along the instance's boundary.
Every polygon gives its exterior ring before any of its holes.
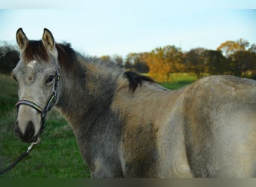
{"type": "Polygon", "coordinates": [[[43,132],[47,111],[54,105],[59,79],[58,50],[46,28],[42,40],[28,40],[22,28],[16,32],[20,60],[13,69],[19,85],[16,132],[22,141],[35,141],[43,132]]]}

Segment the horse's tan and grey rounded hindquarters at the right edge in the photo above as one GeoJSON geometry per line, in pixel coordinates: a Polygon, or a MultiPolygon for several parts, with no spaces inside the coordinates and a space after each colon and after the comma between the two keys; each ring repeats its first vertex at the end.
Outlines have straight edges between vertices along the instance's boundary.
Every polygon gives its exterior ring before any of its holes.
{"type": "Polygon", "coordinates": [[[195,177],[256,177],[256,83],[201,79],[184,91],[186,154],[195,177]]]}

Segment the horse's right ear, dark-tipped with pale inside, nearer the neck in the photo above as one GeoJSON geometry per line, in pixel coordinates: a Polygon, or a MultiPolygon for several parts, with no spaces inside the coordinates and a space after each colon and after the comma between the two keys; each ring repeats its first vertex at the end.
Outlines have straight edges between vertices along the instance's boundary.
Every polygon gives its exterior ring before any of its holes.
{"type": "Polygon", "coordinates": [[[48,52],[57,58],[58,51],[55,47],[55,40],[51,31],[49,31],[47,28],[44,28],[43,30],[42,41],[43,41],[43,46],[48,50],[48,52]]]}

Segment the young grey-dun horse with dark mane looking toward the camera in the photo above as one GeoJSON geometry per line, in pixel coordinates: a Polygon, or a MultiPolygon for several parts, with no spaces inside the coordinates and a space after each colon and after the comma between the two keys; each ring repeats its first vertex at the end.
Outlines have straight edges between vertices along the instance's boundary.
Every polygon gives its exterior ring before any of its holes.
{"type": "Polygon", "coordinates": [[[22,141],[53,106],[72,126],[91,177],[256,177],[256,82],[208,76],[168,90],[147,76],[16,31],[15,124],[22,141]]]}

